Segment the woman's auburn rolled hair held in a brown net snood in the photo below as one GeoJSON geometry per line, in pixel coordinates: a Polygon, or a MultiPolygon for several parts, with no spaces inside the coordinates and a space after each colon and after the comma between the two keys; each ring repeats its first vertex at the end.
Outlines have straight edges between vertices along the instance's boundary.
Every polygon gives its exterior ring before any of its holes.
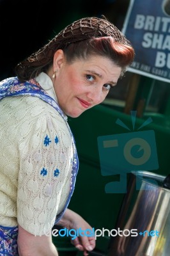
{"type": "Polygon", "coordinates": [[[20,81],[29,81],[52,66],[54,53],[62,49],[66,61],[103,56],[121,67],[121,76],[134,60],[134,48],[125,35],[106,19],[87,17],[73,22],[48,44],[15,67],[20,81]]]}

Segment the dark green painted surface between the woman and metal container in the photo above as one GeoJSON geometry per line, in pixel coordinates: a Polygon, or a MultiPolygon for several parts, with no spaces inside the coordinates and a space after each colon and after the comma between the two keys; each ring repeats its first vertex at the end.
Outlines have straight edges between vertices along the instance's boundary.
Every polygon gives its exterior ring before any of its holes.
{"type": "MultiPolygon", "coordinates": [[[[81,214],[95,229],[104,227],[111,230],[114,228],[124,196],[123,193],[105,193],[105,184],[111,181],[119,181],[120,175],[102,176],[97,145],[98,136],[128,132],[125,128],[116,124],[117,118],[120,118],[132,131],[131,116],[114,111],[104,105],[89,109],[79,118],[68,119],[75,136],[80,160],[75,191],[69,208],[81,214]]],[[[135,129],[143,122],[144,119],[137,118],[135,129]]],[[[169,126],[152,122],[140,131],[147,130],[155,131],[159,163],[158,170],[152,170],[151,172],[166,175],[169,173],[169,126]]],[[[114,157],[117,156],[113,156],[113,159],[114,157]]],[[[57,244],[60,248],[63,248],[63,246],[67,248],[69,243],[61,246],[61,243],[56,241],[57,244]]],[[[98,250],[106,252],[108,244],[109,237],[98,237],[98,250]]]]}

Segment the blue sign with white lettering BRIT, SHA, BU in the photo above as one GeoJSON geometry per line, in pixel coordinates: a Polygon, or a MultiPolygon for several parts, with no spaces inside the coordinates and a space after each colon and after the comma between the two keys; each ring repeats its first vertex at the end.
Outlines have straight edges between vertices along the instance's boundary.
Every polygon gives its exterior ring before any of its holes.
{"type": "Polygon", "coordinates": [[[170,0],[131,0],[123,34],[135,49],[128,71],[170,81],[170,0]]]}

